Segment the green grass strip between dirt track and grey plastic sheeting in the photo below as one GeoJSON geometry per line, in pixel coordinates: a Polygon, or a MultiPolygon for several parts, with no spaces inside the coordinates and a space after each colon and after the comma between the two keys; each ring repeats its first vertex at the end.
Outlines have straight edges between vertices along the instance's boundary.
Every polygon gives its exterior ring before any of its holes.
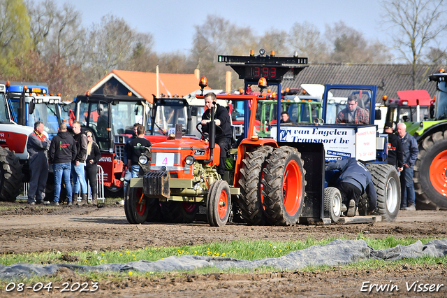
{"type": "MultiPolygon", "coordinates": [[[[346,238],[345,238],[346,239],[346,238]]],[[[386,239],[369,239],[359,234],[357,239],[364,239],[369,246],[379,250],[392,248],[397,244],[407,246],[417,239],[397,239],[388,236],[386,239]]],[[[0,255],[0,264],[10,265],[19,262],[33,264],[70,263],[96,266],[99,264],[123,264],[138,260],[156,261],[170,256],[200,255],[207,257],[231,257],[240,260],[258,260],[270,257],[281,257],[294,250],[302,250],[316,244],[328,244],[335,238],[327,238],[321,241],[308,238],[305,241],[262,241],[262,240],[237,240],[228,243],[208,243],[197,246],[178,246],[165,248],[144,248],[139,250],[111,250],[111,251],[75,251],[60,253],[57,251],[47,253],[24,253],[0,255]],[[66,262],[73,260],[74,262],[66,262]]],[[[424,244],[433,238],[420,239],[424,244]]]]}

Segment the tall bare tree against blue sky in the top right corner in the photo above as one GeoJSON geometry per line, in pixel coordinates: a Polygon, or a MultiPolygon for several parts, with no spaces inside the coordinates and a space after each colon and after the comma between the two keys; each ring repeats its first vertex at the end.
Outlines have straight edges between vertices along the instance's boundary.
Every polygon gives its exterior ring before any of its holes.
{"type": "Polygon", "coordinates": [[[409,76],[413,89],[417,90],[425,80],[416,76],[418,64],[447,29],[445,1],[386,0],[382,6],[386,23],[393,29],[394,48],[400,52],[399,58],[411,65],[409,76]]]}

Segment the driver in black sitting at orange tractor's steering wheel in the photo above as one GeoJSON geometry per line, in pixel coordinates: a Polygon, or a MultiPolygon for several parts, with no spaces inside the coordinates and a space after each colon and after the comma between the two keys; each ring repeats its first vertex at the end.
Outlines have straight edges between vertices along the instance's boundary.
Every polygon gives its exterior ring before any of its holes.
{"type": "MultiPolygon", "coordinates": [[[[205,95],[205,106],[207,111],[202,115],[202,131],[209,132],[209,123],[211,119],[211,108],[213,102],[217,102],[217,96],[213,92],[205,95]]],[[[221,160],[217,166],[217,173],[223,176],[225,173],[226,152],[231,148],[231,120],[228,110],[219,104],[216,104],[214,111],[214,122],[216,123],[216,143],[221,148],[221,160]]]]}

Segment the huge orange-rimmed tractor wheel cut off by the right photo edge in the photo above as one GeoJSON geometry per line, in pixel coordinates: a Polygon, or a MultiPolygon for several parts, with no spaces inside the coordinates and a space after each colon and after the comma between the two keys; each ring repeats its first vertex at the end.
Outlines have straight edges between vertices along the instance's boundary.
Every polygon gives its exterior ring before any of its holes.
{"type": "Polygon", "coordinates": [[[447,209],[447,133],[435,132],[419,144],[414,164],[416,206],[447,209]]]}

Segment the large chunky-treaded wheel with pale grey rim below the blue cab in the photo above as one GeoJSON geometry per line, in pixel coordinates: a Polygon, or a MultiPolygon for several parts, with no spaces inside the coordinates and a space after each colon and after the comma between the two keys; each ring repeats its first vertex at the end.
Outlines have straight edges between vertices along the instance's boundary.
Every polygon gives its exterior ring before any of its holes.
{"type": "Polygon", "coordinates": [[[377,212],[382,221],[395,222],[400,208],[399,173],[391,164],[367,164],[377,192],[377,212]]]}

